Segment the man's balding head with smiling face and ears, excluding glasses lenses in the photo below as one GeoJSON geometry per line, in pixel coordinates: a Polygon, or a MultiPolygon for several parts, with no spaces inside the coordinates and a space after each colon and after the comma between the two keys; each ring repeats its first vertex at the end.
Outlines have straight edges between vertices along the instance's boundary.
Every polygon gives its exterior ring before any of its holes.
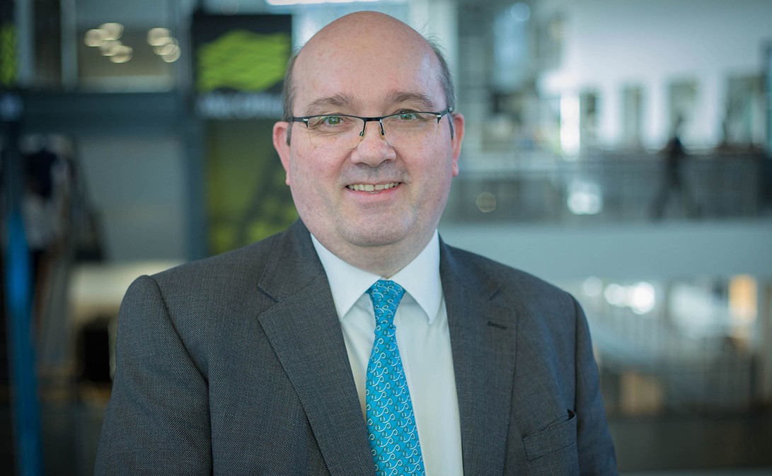
{"type": "MultiPolygon", "coordinates": [[[[290,71],[287,119],[409,116],[453,106],[452,82],[435,48],[380,13],[330,23],[300,50],[290,71]]],[[[330,148],[312,143],[305,123],[282,121],[274,126],[273,143],[313,235],[350,264],[389,276],[432,238],[458,174],[463,133],[463,117],[446,114],[422,140],[393,147],[388,128],[384,137],[373,121],[353,148],[330,148]]]]}

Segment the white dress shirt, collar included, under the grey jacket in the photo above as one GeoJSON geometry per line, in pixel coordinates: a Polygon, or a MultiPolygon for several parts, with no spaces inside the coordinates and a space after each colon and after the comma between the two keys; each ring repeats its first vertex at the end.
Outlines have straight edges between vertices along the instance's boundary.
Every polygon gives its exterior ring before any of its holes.
{"type": "MultiPolygon", "coordinates": [[[[375,333],[373,304],[366,291],[378,279],[385,278],[349,265],[324,248],[313,235],[311,239],[330,282],[364,416],[365,374],[375,333]]],[[[448,313],[439,278],[437,232],[420,255],[388,279],[405,289],[394,316],[394,326],[397,326],[397,345],[410,388],[426,476],[460,476],[463,474],[461,424],[448,313]]]]}

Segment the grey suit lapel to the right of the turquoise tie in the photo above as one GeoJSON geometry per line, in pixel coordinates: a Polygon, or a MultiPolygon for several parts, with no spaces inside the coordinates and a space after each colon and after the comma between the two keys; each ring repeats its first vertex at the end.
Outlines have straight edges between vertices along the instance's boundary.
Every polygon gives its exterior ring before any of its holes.
{"type": "Polygon", "coordinates": [[[496,282],[466,265],[444,243],[440,250],[464,474],[500,476],[510,425],[516,321],[512,309],[493,302],[496,282]]]}

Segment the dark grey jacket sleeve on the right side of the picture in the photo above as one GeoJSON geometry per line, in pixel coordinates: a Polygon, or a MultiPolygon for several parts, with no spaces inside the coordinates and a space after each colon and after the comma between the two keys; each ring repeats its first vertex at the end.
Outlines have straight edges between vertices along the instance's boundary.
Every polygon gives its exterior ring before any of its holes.
{"type": "Polygon", "coordinates": [[[587,318],[576,308],[576,414],[579,470],[583,475],[618,474],[614,444],[608,433],[606,413],[598,382],[598,365],[592,350],[587,318]]]}

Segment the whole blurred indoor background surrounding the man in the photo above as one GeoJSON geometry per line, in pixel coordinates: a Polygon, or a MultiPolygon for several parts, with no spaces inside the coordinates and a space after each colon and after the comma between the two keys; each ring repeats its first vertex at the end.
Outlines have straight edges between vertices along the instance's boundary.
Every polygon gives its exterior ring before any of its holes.
{"type": "Polygon", "coordinates": [[[360,9],[445,47],[442,237],[577,296],[622,473],[772,474],[768,0],[4,0],[0,472],[93,471],[137,275],[296,219],[286,60],[360,9]]]}

